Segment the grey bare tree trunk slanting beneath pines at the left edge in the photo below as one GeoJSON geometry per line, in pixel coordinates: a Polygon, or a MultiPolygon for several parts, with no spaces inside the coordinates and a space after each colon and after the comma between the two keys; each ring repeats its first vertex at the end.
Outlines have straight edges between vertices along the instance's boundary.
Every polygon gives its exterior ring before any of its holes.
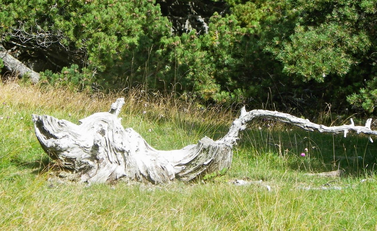
{"type": "Polygon", "coordinates": [[[8,51],[0,44],[0,58],[3,59],[3,63],[10,71],[17,72],[21,76],[28,74],[33,83],[39,81],[40,75],[28,68],[15,57],[11,56],[8,51]]]}

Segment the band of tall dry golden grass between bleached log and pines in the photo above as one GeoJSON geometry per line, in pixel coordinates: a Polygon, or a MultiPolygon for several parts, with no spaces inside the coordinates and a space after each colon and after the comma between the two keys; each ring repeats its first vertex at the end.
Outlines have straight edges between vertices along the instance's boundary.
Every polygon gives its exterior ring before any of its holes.
{"type": "Polygon", "coordinates": [[[162,119],[166,116],[171,119],[179,116],[201,122],[205,119],[211,123],[229,123],[231,120],[231,115],[221,107],[198,109],[195,102],[190,99],[183,101],[176,99],[173,95],[146,93],[142,88],[104,94],[72,92],[69,88],[41,87],[17,81],[0,83],[0,99],[3,102],[44,112],[70,112],[72,115],[87,116],[109,110],[110,104],[118,97],[124,97],[126,101],[123,114],[133,115],[145,111],[147,115],[154,115],[151,117],[153,119],[162,119]]]}

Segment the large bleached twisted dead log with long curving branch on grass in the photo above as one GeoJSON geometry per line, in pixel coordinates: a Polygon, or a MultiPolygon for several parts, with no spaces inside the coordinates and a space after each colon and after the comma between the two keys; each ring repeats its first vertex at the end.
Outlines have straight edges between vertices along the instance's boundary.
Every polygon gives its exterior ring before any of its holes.
{"type": "MultiPolygon", "coordinates": [[[[268,118],[297,125],[306,130],[347,134],[374,134],[366,126],[342,125],[326,127],[307,119],[268,110],[241,110],[239,118],[231,124],[229,132],[219,140],[204,137],[197,144],[179,150],[160,151],[152,148],[132,128],[124,129],[118,114],[124,104],[118,98],[109,112],[100,112],[81,119],[80,125],[58,120],[48,115],[32,115],[37,138],[44,151],[67,169],[78,173],[82,182],[96,183],[126,180],[147,180],[163,183],[173,179],[191,180],[198,175],[228,169],[232,160],[232,147],[239,131],[249,121],[268,118]]],[[[371,140],[372,141],[372,140],[371,140]]]]}

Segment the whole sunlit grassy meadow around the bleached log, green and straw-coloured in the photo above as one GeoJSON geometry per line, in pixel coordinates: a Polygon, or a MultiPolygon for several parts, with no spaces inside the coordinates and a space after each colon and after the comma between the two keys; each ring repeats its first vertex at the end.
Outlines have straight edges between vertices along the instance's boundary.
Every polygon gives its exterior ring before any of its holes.
{"type": "MultiPolygon", "coordinates": [[[[375,143],[356,134],[345,139],[342,134],[307,132],[278,123],[267,127],[272,121],[251,124],[234,148],[230,170],[205,182],[86,187],[48,180],[49,171],[42,169],[50,160],[34,135],[31,114],[77,122],[107,111],[118,96],[89,97],[66,89],[0,83],[0,230],[377,228],[375,143]],[[307,156],[301,157],[305,148],[307,156]],[[338,168],[346,174],[305,175],[338,168]],[[263,180],[271,191],[258,184],[228,183],[234,179],[263,180]],[[368,181],[360,183],[362,179],[368,181]],[[326,183],[342,189],[302,189],[326,183]]],[[[179,104],[143,92],[124,97],[120,115],[124,127],[133,127],[157,149],[182,148],[203,136],[217,139],[227,132],[232,118],[221,110],[194,110],[190,102],[179,104]]]]}

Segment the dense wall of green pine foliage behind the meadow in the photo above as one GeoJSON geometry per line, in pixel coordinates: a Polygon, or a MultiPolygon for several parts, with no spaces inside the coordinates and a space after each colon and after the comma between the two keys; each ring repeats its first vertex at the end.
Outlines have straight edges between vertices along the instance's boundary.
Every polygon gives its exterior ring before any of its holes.
{"type": "Polygon", "coordinates": [[[144,85],[202,103],[272,100],[299,112],[348,109],[348,97],[374,112],[376,0],[221,2],[223,11],[203,19],[207,33],[187,24],[179,34],[178,16],[155,0],[0,0],[0,42],[43,71],[44,83],[144,85]]]}

